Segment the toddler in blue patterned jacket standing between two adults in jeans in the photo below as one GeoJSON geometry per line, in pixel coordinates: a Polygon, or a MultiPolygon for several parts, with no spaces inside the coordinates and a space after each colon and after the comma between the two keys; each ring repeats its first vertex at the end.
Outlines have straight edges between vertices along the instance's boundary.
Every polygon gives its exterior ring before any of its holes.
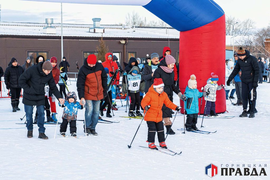
{"type": "MultiPolygon", "coordinates": [[[[61,106],[59,102],[59,106],[61,106]]],[[[63,122],[60,125],[60,134],[66,135],[68,123],[69,123],[69,131],[71,136],[76,137],[76,120],[77,120],[77,113],[78,109],[83,109],[83,106],[77,102],[77,96],[75,92],[68,92],[67,99],[65,103],[62,105],[64,107],[63,110],[63,122]]]]}

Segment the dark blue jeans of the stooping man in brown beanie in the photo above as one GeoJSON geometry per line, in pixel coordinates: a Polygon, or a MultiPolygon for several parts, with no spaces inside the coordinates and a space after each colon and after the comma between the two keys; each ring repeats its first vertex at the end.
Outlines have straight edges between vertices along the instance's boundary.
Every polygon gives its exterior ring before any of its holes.
{"type": "MultiPolygon", "coordinates": [[[[33,106],[24,105],[24,110],[26,113],[26,127],[28,131],[33,131],[33,106]]],[[[36,106],[36,110],[38,112],[38,132],[45,133],[44,120],[44,105],[36,106]]]]}

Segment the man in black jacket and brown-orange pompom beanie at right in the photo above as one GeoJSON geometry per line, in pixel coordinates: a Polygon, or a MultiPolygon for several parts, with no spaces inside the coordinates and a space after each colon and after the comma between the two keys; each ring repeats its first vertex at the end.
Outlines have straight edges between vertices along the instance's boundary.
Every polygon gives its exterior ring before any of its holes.
{"type": "Polygon", "coordinates": [[[257,99],[256,89],[258,87],[258,80],[260,74],[260,68],[256,57],[250,55],[248,50],[244,50],[242,47],[237,51],[239,60],[235,64],[234,70],[228,78],[227,86],[230,86],[232,79],[238,74],[240,69],[241,81],[242,81],[242,98],[243,98],[243,113],[239,117],[248,117],[247,107],[248,99],[251,100],[250,115],[249,118],[255,117],[255,106],[257,99]],[[251,94],[250,94],[251,93],[251,94]]]}

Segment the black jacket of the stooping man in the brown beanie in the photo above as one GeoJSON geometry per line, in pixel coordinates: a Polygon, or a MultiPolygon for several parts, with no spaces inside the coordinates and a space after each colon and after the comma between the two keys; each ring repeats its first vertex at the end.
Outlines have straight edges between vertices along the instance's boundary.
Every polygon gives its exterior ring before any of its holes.
{"type": "Polygon", "coordinates": [[[29,67],[20,77],[19,84],[23,89],[22,103],[28,106],[39,106],[45,104],[45,85],[48,83],[50,91],[57,99],[62,98],[52,76],[43,73],[40,62],[37,66],[29,67]]]}

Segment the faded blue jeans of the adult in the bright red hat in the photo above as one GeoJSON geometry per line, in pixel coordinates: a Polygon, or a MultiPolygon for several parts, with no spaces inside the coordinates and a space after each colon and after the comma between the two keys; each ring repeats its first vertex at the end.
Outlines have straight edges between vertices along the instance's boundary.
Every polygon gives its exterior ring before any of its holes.
{"type": "Polygon", "coordinates": [[[99,120],[99,104],[100,101],[85,100],[85,123],[86,128],[96,129],[99,120]]]}

